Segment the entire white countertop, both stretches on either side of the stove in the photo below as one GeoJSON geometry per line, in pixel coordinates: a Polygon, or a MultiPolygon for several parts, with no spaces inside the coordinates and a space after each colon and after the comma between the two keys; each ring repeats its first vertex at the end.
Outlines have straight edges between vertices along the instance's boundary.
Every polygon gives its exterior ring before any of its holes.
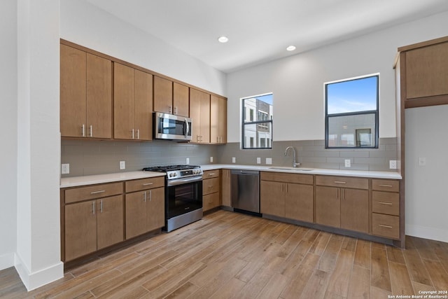
{"type": "MultiPolygon", "coordinates": [[[[373,179],[402,179],[398,172],[374,172],[367,170],[347,170],[347,169],[309,169],[297,170],[293,167],[280,166],[261,166],[261,165],[236,165],[236,164],[207,164],[201,165],[202,170],[211,169],[244,169],[244,170],[258,170],[263,172],[288,172],[290,174],[323,174],[335,176],[359,176],[373,179]],[[274,168],[274,169],[272,169],[274,168]]],[[[155,176],[165,176],[160,172],[118,172],[113,174],[95,174],[92,176],[73,176],[69,178],[62,178],[60,188],[76,187],[92,185],[95,183],[111,183],[114,181],[127,181],[132,179],[144,179],[155,176]]]]}

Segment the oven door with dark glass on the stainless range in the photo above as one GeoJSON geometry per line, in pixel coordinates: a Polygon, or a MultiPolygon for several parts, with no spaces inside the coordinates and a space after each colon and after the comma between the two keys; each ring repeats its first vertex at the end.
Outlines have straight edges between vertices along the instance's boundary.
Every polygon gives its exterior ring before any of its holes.
{"type": "Polygon", "coordinates": [[[202,176],[167,181],[167,219],[202,209],[202,176]]]}

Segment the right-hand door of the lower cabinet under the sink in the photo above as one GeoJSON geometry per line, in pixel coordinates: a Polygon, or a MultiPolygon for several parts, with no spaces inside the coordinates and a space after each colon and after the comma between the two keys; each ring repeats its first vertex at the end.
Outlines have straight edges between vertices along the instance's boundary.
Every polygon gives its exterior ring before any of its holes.
{"type": "Polygon", "coordinates": [[[313,222],[313,186],[288,183],[286,190],[286,218],[313,222]]]}

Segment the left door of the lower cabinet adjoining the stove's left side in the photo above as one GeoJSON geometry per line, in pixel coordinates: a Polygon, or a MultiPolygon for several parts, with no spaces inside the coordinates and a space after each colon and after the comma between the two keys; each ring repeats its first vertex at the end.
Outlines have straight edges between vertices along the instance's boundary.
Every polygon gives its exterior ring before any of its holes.
{"type": "Polygon", "coordinates": [[[126,239],[144,234],[146,229],[146,191],[126,194],[126,239]]]}

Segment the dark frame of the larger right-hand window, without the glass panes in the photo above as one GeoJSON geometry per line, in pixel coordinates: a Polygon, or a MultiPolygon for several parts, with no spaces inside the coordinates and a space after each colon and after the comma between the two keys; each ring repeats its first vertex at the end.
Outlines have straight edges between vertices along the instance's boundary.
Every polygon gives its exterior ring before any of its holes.
{"type": "MultiPolygon", "coordinates": [[[[324,99],[325,100],[325,149],[379,148],[379,91],[380,91],[379,90],[379,79],[380,79],[379,73],[377,73],[377,74],[369,74],[369,75],[365,75],[365,76],[358,76],[358,77],[354,77],[354,78],[346,78],[343,80],[323,83],[324,91],[325,91],[325,99],[324,99]],[[363,79],[363,78],[372,78],[372,77],[377,77],[377,99],[376,99],[377,109],[376,110],[363,110],[363,111],[356,111],[356,112],[332,113],[330,115],[328,114],[328,85],[334,84],[334,83],[354,81],[354,80],[359,80],[359,79],[363,79]],[[341,116],[360,116],[360,115],[365,115],[365,114],[374,114],[374,120],[375,120],[374,146],[356,146],[356,141],[355,141],[355,146],[328,146],[329,118],[341,117],[341,116]]],[[[356,136],[355,136],[355,140],[356,140],[356,136]]]]}

